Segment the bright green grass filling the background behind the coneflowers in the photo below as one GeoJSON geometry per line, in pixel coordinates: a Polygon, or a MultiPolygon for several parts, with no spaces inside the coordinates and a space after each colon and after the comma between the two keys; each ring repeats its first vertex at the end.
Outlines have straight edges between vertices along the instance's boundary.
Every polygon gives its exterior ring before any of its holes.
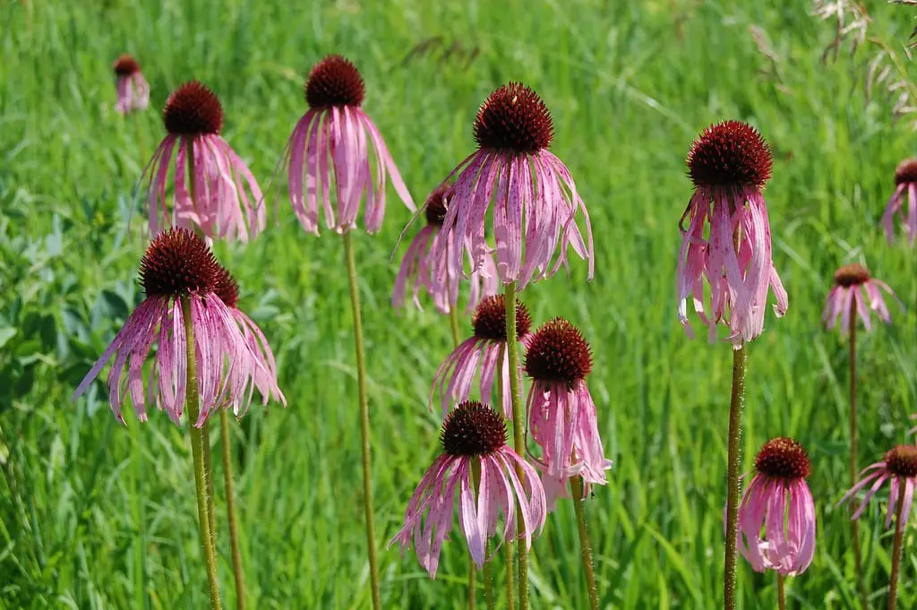
{"type": "MultiPolygon", "coordinates": [[[[0,6],[0,607],[202,608],[204,565],[186,430],[154,413],[119,426],[97,383],[73,388],[141,297],[143,215],[126,231],[132,189],[162,136],[157,113],[122,120],[110,62],[134,53],[161,107],[200,78],[226,108],[226,140],[267,186],[304,112],[304,71],[322,55],[355,61],[364,105],[415,195],[471,150],[471,121],[492,88],[523,80],[544,96],[565,160],[589,205],[596,278],[585,265],[525,291],[536,320],[567,316],[591,340],[589,379],[615,466],[587,516],[605,607],[722,605],[722,510],[730,349],[684,337],[676,319],[678,220],[691,194],[684,157],[713,121],[757,125],[776,150],[766,197],[788,315],[768,314],[750,348],[746,470],[768,438],[809,448],[819,538],[789,583],[794,607],[855,608],[845,509],[845,343],[819,325],[831,274],[865,255],[915,302],[915,252],[889,247],[878,218],[913,133],[867,103],[867,55],[823,65],[830,24],[806,3],[275,2],[212,0],[0,6]],[[774,7],[763,6],[773,4],[774,7]],[[27,8],[28,6],[28,8],[27,8]],[[768,35],[777,63],[749,27],[768,35]],[[403,59],[425,39],[441,46],[403,59]],[[455,42],[462,50],[444,57],[455,42]],[[477,51],[469,61],[472,51],[477,51]]],[[[904,40],[903,8],[877,28],[904,40]]],[[[278,356],[284,410],[253,406],[238,472],[249,605],[369,607],[360,507],[359,427],[347,279],[339,238],[306,236],[281,188],[279,216],[249,246],[219,245],[278,356]]],[[[437,450],[425,398],[447,355],[432,306],[396,316],[397,261],[410,217],[390,192],[381,234],[356,236],[365,308],[379,545],[437,450]]],[[[917,403],[917,323],[861,334],[861,463],[904,438],[917,403]]],[[[221,481],[217,481],[217,495],[221,481]]],[[[220,504],[222,506],[222,504],[220,504]]],[[[884,507],[882,507],[884,508],[884,507]]],[[[885,604],[890,533],[880,506],[863,520],[869,589],[885,604]]],[[[221,581],[234,607],[228,534],[221,581]]],[[[913,520],[911,520],[913,523],[913,520]]],[[[906,543],[917,537],[914,527],[906,543]]],[[[431,582],[414,556],[381,549],[387,608],[460,608],[466,560],[458,529],[431,582]]],[[[536,541],[533,608],[584,608],[572,507],[536,541]]],[[[901,608],[917,604],[917,554],[905,552],[901,608]]],[[[498,567],[498,571],[500,568],[498,567]]],[[[775,607],[773,575],[739,564],[743,608],[775,607]]]]}

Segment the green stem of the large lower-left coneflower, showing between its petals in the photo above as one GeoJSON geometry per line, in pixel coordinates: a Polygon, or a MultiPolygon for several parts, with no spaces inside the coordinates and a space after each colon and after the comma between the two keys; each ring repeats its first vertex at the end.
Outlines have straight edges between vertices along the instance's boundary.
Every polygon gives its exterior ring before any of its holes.
{"type": "Polygon", "coordinates": [[[197,362],[194,350],[194,327],[191,323],[191,300],[182,296],[182,317],[184,318],[184,337],[188,346],[188,378],[185,396],[185,411],[191,422],[191,453],[194,460],[194,487],[197,491],[197,523],[201,529],[201,548],[204,550],[204,563],[207,566],[207,582],[210,591],[211,610],[220,610],[220,585],[216,581],[216,551],[210,532],[210,521],[207,513],[207,480],[204,471],[204,443],[201,429],[194,427],[200,415],[197,394],[197,362]]]}

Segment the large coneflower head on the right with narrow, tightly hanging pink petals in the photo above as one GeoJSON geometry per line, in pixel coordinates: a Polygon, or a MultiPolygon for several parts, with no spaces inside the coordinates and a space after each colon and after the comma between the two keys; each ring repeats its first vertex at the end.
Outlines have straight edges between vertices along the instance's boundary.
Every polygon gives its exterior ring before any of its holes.
{"type": "Polygon", "coordinates": [[[689,297],[710,329],[710,340],[722,322],[735,349],[764,330],[768,286],[777,299],[777,315],[787,311],[787,293],[771,260],[768,206],[761,194],[771,163],[768,144],[742,121],[713,125],[691,145],[694,194],[681,216],[678,268],[679,320],[691,337],[689,297]],[[705,303],[705,281],[710,305],[705,303]]]}

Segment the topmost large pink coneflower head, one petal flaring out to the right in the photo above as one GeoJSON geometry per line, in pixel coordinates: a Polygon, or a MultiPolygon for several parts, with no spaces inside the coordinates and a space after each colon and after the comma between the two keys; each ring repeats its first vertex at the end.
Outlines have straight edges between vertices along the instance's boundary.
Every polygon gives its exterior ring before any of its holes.
{"type": "Polygon", "coordinates": [[[365,93],[356,66],[339,55],[316,63],[306,79],[309,110],[293,128],[282,162],[288,168],[293,211],[303,228],[315,235],[319,204],[326,226],[343,233],[357,226],[364,196],[364,225],[368,233],[378,231],[385,214],[386,175],[404,205],[414,211],[414,200],[379,129],[360,108],[365,93]],[[332,183],[337,214],[331,204],[332,183]]]}

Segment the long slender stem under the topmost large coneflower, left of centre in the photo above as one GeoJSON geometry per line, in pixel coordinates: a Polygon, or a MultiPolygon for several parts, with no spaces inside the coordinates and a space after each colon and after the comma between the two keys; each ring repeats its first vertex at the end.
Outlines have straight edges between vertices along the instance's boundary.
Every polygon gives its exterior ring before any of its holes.
{"type": "Polygon", "coordinates": [[[350,281],[350,307],[353,312],[353,343],[357,355],[357,395],[359,400],[360,452],[363,457],[363,509],[366,513],[366,550],[370,560],[370,587],[372,607],[381,610],[379,594],[379,567],[376,562],[376,525],[372,515],[372,471],[370,469],[370,406],[366,396],[366,362],[363,355],[363,321],[359,313],[357,265],[353,258],[350,231],[344,232],[344,260],[350,281]]]}

